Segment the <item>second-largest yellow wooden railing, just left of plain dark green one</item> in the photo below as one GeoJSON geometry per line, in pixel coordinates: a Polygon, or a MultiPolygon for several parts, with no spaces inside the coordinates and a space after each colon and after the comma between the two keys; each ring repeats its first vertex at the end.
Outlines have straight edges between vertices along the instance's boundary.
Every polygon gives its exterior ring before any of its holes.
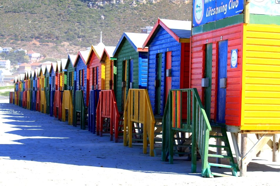
{"type": "Polygon", "coordinates": [[[66,110],[68,110],[68,125],[73,123],[73,104],[71,91],[64,91],[62,97],[62,121],[66,120],[66,110]]]}

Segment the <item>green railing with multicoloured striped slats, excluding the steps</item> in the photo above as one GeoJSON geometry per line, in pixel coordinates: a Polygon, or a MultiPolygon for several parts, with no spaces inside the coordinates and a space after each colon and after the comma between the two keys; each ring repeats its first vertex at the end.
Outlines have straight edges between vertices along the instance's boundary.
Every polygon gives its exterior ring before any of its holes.
{"type": "Polygon", "coordinates": [[[162,160],[169,153],[173,162],[174,131],[192,133],[192,172],[196,172],[197,147],[202,160],[202,176],[208,167],[208,141],[211,126],[196,88],[169,90],[162,119],[162,160]]]}

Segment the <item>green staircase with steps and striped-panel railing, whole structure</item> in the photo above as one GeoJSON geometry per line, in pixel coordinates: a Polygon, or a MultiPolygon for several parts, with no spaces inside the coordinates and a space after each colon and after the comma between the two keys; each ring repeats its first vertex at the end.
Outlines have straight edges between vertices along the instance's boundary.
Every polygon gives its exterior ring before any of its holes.
{"type": "Polygon", "coordinates": [[[211,167],[230,168],[232,175],[238,176],[226,126],[218,123],[210,125],[196,88],[169,91],[162,130],[162,161],[173,163],[176,154],[191,157],[191,171],[195,173],[197,158],[201,158],[202,177],[228,176],[211,172],[211,167]],[[191,135],[186,136],[187,133],[191,135]],[[213,138],[223,144],[209,144],[214,141],[213,138]],[[222,151],[223,154],[220,153],[222,151]],[[219,160],[218,163],[215,160],[219,160]]]}

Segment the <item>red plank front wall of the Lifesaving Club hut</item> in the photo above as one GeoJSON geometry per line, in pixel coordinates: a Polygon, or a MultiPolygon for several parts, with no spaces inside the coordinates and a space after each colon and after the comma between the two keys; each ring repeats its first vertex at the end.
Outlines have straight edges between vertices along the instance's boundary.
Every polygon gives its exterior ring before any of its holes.
{"type": "Polygon", "coordinates": [[[221,40],[228,40],[225,123],[227,125],[239,126],[241,121],[243,24],[236,24],[192,36],[190,87],[197,88],[203,103],[204,88],[201,87],[201,78],[205,76],[205,45],[206,43],[213,43],[210,119],[215,121],[218,86],[218,42],[221,40]],[[232,49],[238,49],[238,68],[230,68],[230,53],[232,49]]]}

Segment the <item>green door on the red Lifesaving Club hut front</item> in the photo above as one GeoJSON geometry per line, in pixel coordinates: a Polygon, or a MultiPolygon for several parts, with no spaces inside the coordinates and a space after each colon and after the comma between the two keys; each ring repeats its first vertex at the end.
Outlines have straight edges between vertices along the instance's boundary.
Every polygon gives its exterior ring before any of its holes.
{"type": "Polygon", "coordinates": [[[212,43],[206,44],[205,48],[204,78],[208,79],[208,87],[204,88],[204,108],[207,118],[210,121],[212,92],[212,43]]]}

